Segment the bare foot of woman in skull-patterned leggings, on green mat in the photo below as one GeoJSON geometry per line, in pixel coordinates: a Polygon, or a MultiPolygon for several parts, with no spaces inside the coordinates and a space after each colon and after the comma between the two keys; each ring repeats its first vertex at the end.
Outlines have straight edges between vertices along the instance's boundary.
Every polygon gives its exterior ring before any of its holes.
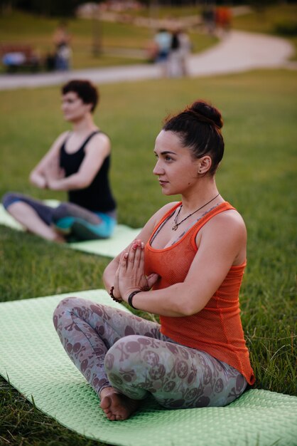
{"type": "Polygon", "coordinates": [[[139,406],[138,400],[131,400],[111,387],[102,389],[100,399],[100,408],[111,421],[126,420],[139,406]]]}

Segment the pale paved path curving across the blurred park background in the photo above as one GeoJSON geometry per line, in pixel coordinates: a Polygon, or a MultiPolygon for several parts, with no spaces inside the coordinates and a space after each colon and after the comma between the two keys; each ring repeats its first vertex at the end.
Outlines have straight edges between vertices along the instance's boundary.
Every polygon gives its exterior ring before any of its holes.
{"type": "MultiPolygon", "coordinates": [[[[296,69],[296,63],[288,61],[293,53],[293,46],[284,38],[232,30],[216,46],[189,56],[189,75],[215,76],[257,68],[296,69]]],[[[64,73],[4,74],[0,76],[0,90],[60,85],[70,78],[87,78],[102,84],[160,77],[158,66],[153,64],[91,68],[64,73]]]]}

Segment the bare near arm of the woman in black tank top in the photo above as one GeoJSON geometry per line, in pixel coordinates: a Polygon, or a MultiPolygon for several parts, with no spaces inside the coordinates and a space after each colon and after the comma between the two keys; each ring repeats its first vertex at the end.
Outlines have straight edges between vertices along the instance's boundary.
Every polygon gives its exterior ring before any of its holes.
{"type": "Polygon", "coordinates": [[[80,170],[69,177],[48,177],[48,187],[51,190],[75,190],[85,189],[90,186],[100,170],[104,159],[110,152],[110,141],[107,135],[98,133],[85,147],[85,158],[82,161],[80,170]]]}

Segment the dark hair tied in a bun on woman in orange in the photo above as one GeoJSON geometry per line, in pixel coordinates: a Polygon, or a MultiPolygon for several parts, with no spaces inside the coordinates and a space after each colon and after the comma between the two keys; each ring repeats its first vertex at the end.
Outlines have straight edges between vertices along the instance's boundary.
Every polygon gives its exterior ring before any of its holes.
{"type": "Polygon", "coordinates": [[[224,154],[222,115],[204,100],[197,100],[185,110],[168,116],[163,130],[178,133],[183,147],[189,147],[193,157],[209,155],[212,159],[210,175],[214,175],[224,154]]]}

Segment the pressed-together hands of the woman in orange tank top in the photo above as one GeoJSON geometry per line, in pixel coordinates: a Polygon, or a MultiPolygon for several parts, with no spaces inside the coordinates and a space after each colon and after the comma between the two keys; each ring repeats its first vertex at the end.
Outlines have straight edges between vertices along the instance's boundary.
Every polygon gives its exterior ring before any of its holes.
{"type": "Polygon", "coordinates": [[[158,274],[144,274],[144,243],[136,240],[129,252],[122,254],[117,269],[117,284],[122,299],[127,301],[132,291],[148,291],[158,279],[158,274]]]}

